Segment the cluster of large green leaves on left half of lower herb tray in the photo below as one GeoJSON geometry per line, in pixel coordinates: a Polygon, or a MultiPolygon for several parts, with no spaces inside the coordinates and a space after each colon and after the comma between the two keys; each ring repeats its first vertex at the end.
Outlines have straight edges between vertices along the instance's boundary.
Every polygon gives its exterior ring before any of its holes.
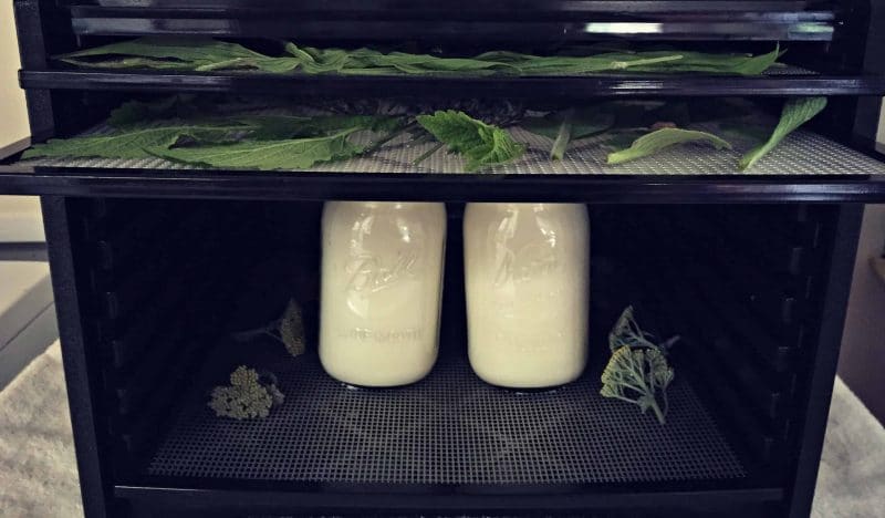
{"type": "Polygon", "coordinates": [[[208,114],[164,118],[176,103],[132,101],[112,113],[112,133],[38,144],[29,157],[159,157],[231,169],[306,168],[357,156],[367,146],[348,137],[358,132],[395,132],[399,117],[369,115],[208,114]]]}

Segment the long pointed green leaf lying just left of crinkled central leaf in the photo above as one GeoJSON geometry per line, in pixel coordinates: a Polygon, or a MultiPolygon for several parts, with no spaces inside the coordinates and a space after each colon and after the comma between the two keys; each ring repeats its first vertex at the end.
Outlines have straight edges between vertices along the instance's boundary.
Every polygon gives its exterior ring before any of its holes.
{"type": "Polygon", "coordinates": [[[347,136],[361,128],[313,138],[287,141],[244,141],[235,144],[196,147],[152,147],[148,152],[174,162],[222,167],[230,169],[302,169],[322,162],[351,158],[362,147],[347,141],[347,136]]]}

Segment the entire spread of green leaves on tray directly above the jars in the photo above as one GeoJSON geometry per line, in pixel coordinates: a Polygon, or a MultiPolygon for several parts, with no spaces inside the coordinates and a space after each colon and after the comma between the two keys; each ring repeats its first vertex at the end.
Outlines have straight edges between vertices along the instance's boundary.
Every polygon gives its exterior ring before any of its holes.
{"type": "Polygon", "coordinates": [[[415,160],[416,165],[446,147],[464,157],[465,170],[479,172],[523,155],[525,143],[501,127],[519,125],[551,141],[553,160],[565,157],[573,142],[594,137],[595,145],[607,148],[607,163],[617,166],[677,145],[730,149],[731,143],[722,135],[735,133],[729,127],[737,127],[745,141],[748,128],[753,128],[753,134],[764,133],[736,164],[747,170],[820,113],[826,99],[787,101],[773,127],[753,126],[752,106],[725,100],[610,101],[546,113],[528,112],[524,106],[506,102],[455,105],[481,118],[431,105],[362,103],[336,113],[325,110],[321,115],[306,116],[267,115],[262,114],[267,111],[256,112],[253,107],[222,111],[218,104],[188,95],[149,103],[131,101],[111,114],[110,132],[49,141],[33,146],[23,157],[159,157],[209,168],[300,169],[369,155],[403,137],[408,145],[436,142],[415,160]],[[366,132],[372,141],[356,143],[353,137],[366,132]]]}

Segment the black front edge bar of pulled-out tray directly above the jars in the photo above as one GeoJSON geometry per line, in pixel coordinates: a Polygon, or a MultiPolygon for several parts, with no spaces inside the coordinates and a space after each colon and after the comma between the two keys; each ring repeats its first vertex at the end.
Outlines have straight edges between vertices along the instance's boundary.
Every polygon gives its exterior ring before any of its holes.
{"type": "Polygon", "coordinates": [[[11,195],[215,199],[581,201],[592,204],[882,203],[885,176],[404,175],[169,173],[0,166],[11,195]]]}

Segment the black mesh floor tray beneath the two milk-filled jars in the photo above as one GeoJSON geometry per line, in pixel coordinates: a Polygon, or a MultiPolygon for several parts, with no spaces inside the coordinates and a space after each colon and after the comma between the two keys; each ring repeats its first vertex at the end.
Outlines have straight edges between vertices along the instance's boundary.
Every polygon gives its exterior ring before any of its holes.
{"type": "MultiPolygon", "coordinates": [[[[284,353],[282,353],[284,354],[284,353]]],[[[457,354],[407,387],[347,387],[315,355],[251,366],[279,377],[266,419],[216,417],[199,387],[162,442],[156,476],[379,484],[555,484],[746,476],[689,383],[662,426],[598,395],[597,373],[552,392],[481,382],[457,354]]]]}

